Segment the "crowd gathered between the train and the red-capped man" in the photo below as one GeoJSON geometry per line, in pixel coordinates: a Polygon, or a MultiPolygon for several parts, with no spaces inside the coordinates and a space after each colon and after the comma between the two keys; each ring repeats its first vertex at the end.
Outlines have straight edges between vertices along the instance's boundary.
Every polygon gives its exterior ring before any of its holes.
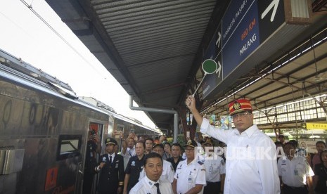
{"type": "MultiPolygon", "coordinates": [[[[153,138],[143,139],[142,136],[130,133],[122,143],[121,151],[117,152],[118,143],[115,138],[106,138],[105,154],[100,156],[98,164],[92,163],[94,171],[91,175],[100,174],[96,192],[222,193],[224,157],[213,152],[214,147],[210,139],[205,143],[202,141],[199,139],[195,142],[188,138],[185,145],[170,144],[165,136],[155,141],[153,138]],[[198,153],[201,153],[198,148],[202,152],[210,150],[207,154],[208,160],[204,163],[197,160],[198,153]]],[[[95,142],[98,142],[98,138],[89,141],[89,156],[92,161],[95,161],[95,155],[98,153],[96,150],[101,147],[95,142]]],[[[90,174],[87,176],[90,179],[90,174]]],[[[83,191],[91,193],[91,186],[83,191]]]]}

